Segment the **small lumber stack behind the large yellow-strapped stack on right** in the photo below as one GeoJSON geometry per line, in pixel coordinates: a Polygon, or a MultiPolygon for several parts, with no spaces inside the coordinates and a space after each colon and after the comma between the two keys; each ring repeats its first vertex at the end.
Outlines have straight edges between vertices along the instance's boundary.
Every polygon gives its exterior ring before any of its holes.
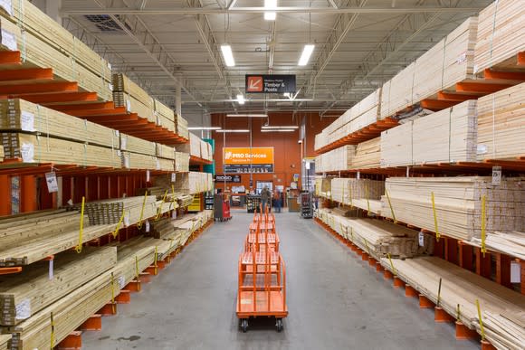
{"type": "Polygon", "coordinates": [[[372,213],[379,213],[385,182],[368,179],[331,179],[331,200],[352,205],[372,213]]]}

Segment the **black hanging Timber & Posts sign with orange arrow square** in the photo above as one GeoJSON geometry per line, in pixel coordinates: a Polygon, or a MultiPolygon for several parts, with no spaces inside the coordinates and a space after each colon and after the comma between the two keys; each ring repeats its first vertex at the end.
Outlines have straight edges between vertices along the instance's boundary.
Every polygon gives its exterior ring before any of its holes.
{"type": "Polygon", "coordinates": [[[246,74],[246,93],[295,93],[295,75],[246,74]]]}

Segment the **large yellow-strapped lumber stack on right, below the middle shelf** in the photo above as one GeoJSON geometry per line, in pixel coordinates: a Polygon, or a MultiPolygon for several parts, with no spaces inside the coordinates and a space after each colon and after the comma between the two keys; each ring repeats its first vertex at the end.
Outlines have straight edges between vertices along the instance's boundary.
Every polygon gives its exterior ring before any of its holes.
{"type": "Polygon", "coordinates": [[[383,196],[381,213],[435,232],[435,212],[437,231],[468,241],[481,237],[484,196],[486,232],[523,231],[525,191],[522,181],[522,178],[509,178],[501,181],[500,186],[493,186],[492,177],[482,176],[390,177],[386,190],[391,206],[383,196]]]}

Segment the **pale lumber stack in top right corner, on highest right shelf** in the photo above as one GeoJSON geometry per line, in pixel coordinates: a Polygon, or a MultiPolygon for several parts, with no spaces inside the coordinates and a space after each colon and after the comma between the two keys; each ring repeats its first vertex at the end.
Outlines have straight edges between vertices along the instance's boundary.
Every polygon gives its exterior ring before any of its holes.
{"type": "Polygon", "coordinates": [[[525,9],[519,0],[499,0],[479,15],[475,45],[476,72],[516,66],[516,55],[525,51],[525,9]]]}

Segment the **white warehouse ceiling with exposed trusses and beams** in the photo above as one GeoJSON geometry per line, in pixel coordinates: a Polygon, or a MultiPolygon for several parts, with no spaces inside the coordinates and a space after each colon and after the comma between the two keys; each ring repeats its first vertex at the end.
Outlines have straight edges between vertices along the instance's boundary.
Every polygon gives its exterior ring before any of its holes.
{"type": "Polygon", "coordinates": [[[174,106],[176,80],[183,81],[185,115],[234,109],[326,113],[348,109],[492,3],[279,0],[277,20],[271,22],[263,20],[263,0],[238,0],[228,10],[231,2],[62,0],[61,14],[66,28],[158,99],[174,106]],[[90,14],[110,16],[97,26],[86,17],[90,14]],[[116,29],[101,30],[108,25],[116,29]],[[222,43],[232,45],[235,67],[224,66],[222,43]],[[305,43],[316,48],[310,63],[298,67],[305,43]],[[244,106],[233,101],[244,92],[244,74],[268,72],[296,74],[297,99],[248,95],[244,106]]]}

